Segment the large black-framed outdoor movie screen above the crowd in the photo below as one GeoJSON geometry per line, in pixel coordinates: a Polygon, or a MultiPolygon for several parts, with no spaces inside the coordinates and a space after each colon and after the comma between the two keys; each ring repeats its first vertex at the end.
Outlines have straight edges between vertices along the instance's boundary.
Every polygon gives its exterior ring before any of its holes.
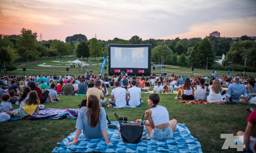
{"type": "Polygon", "coordinates": [[[109,73],[119,71],[132,74],[151,73],[151,44],[117,45],[108,44],[109,73]]]}

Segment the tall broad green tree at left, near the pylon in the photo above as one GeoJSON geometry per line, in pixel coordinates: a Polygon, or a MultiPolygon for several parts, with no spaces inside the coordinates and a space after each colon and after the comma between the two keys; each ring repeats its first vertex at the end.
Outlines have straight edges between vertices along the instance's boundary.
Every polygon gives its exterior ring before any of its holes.
{"type": "Polygon", "coordinates": [[[16,41],[16,48],[22,59],[26,60],[26,50],[34,51],[37,55],[40,55],[40,53],[36,50],[37,47],[39,47],[39,43],[36,40],[37,33],[32,33],[30,29],[25,28],[22,28],[20,32],[20,37],[16,41]]]}

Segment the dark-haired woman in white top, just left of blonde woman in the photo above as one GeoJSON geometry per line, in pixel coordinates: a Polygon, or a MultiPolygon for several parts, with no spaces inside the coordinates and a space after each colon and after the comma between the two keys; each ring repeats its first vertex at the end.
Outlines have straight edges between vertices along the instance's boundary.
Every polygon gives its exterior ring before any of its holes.
{"type": "Polygon", "coordinates": [[[196,86],[196,93],[195,93],[196,96],[195,96],[195,99],[200,99],[200,100],[206,100],[207,99],[208,87],[204,86],[204,82],[205,82],[205,79],[201,78],[200,79],[200,85],[196,86]]]}

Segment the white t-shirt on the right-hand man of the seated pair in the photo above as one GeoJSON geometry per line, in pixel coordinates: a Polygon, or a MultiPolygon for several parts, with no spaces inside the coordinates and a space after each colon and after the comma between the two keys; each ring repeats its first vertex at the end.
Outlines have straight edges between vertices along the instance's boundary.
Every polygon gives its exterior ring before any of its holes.
{"type": "Polygon", "coordinates": [[[138,106],[140,104],[140,88],[136,86],[129,88],[127,94],[130,94],[130,100],[128,102],[130,106],[138,106]]]}

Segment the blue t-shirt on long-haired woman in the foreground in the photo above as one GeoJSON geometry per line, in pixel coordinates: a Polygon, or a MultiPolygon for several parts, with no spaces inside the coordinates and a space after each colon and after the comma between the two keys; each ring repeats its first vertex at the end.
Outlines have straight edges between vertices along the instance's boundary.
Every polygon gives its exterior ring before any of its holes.
{"type": "Polygon", "coordinates": [[[86,138],[92,138],[92,139],[102,138],[103,137],[102,131],[105,129],[108,129],[106,112],[104,108],[102,107],[100,108],[99,123],[94,128],[88,125],[88,117],[86,116],[87,110],[88,110],[87,107],[82,107],[80,109],[80,112],[76,120],[76,129],[83,130],[84,137],[86,138]]]}

